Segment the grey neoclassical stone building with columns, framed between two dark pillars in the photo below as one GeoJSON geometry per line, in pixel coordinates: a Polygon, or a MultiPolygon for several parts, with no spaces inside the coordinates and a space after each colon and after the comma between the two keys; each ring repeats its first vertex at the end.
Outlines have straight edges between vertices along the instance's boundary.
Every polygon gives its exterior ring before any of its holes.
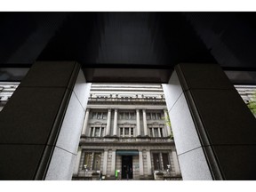
{"type": "Polygon", "coordinates": [[[92,84],[73,180],[181,180],[161,84],[92,84]],[[155,175],[155,177],[154,177],[155,175]]]}

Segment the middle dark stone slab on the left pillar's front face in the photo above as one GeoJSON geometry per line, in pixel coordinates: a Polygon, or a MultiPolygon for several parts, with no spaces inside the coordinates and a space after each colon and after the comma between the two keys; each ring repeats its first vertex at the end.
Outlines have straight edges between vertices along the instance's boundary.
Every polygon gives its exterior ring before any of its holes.
{"type": "Polygon", "coordinates": [[[65,91],[19,87],[1,111],[1,143],[46,144],[65,91]]]}

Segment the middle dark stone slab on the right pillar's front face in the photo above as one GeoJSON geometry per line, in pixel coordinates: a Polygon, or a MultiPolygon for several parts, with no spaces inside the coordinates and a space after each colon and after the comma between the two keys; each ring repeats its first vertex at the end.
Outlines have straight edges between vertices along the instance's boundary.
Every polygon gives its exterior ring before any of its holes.
{"type": "Polygon", "coordinates": [[[212,145],[256,144],[256,119],[233,90],[191,90],[212,145]]]}

